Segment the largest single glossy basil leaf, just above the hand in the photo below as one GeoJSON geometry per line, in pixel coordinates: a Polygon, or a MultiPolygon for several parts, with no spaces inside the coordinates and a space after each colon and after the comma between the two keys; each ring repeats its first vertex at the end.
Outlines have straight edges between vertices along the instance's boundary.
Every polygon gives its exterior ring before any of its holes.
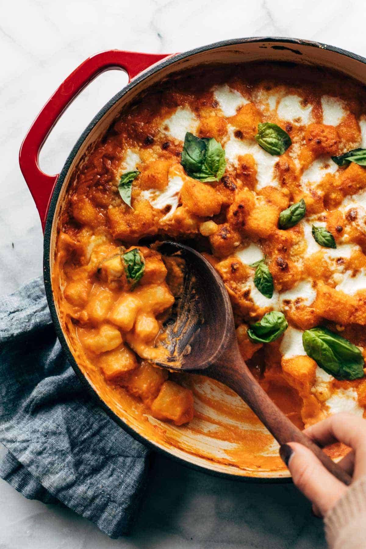
{"type": "Polygon", "coordinates": [[[305,330],[302,344],[306,354],[336,379],[359,379],[364,376],[362,352],[340,335],[318,326],[305,330]]]}

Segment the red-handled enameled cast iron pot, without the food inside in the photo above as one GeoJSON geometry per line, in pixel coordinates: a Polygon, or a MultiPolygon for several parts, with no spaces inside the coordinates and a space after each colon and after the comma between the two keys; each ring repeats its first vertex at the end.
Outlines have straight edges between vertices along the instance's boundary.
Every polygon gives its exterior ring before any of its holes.
{"type": "MultiPolygon", "coordinates": [[[[244,420],[239,425],[235,425],[243,430],[241,445],[235,445],[230,440],[222,440],[215,436],[213,426],[216,424],[217,411],[214,408],[211,411],[206,410],[209,419],[210,413],[212,416],[211,428],[210,421],[203,422],[205,425],[202,423],[193,427],[188,425],[177,428],[163,424],[143,413],[137,417],[136,413],[132,413],[128,402],[121,406],[114,391],[108,388],[101,378],[91,376],[83,368],[82,363],[76,360],[77,353],[69,334],[65,333],[61,326],[51,283],[57,221],[72,173],[85,160],[93,145],[105,134],[121,109],[149,86],[168,79],[174,72],[209,63],[235,64],[250,61],[284,61],[321,66],[339,70],[366,84],[366,59],[339,48],[306,40],[273,37],[240,38],[173,55],[111,50],[93,55],[84,61],[50,97],[21,145],[19,163],[35,200],[44,231],[44,285],[53,323],[72,367],[85,383],[87,390],[99,398],[100,405],[123,429],[128,430],[145,444],[152,445],[154,449],[163,451],[186,465],[225,477],[275,482],[289,478],[288,471],[279,465],[278,448],[273,444],[269,446],[263,444],[260,451],[253,452],[247,442],[252,440],[252,424],[245,423],[244,420]],[[71,150],[62,171],[53,176],[43,173],[38,165],[38,155],[49,132],[82,89],[100,73],[110,69],[126,71],[129,78],[127,86],[93,118],[71,150]],[[244,461],[240,459],[243,455],[246,456],[244,461]],[[258,466],[258,463],[262,465],[258,466]],[[266,466],[263,466],[263,463],[266,463],[266,466]]],[[[217,386],[210,386],[210,382],[207,381],[207,386],[202,391],[203,393],[211,391],[210,394],[215,397],[215,391],[217,392],[218,389],[217,386]]],[[[235,396],[223,391],[218,398],[223,401],[226,399],[229,406],[238,409],[240,406],[243,407],[244,417],[247,412],[245,405],[239,402],[239,397],[237,397],[238,400],[235,399],[235,396]]],[[[200,400],[199,396],[198,400],[200,400]]],[[[199,404],[202,405],[204,402],[205,399],[202,396],[199,404]]],[[[230,424],[230,419],[226,419],[230,424]]],[[[221,421],[225,422],[226,419],[223,417],[221,421]]],[[[262,436],[265,432],[261,429],[260,425],[257,428],[258,436],[262,436]]]]}

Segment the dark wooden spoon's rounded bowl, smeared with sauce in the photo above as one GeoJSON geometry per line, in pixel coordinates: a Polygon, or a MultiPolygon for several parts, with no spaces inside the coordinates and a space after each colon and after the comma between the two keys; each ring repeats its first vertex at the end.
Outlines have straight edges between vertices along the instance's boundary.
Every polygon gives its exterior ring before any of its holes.
{"type": "Polygon", "coordinates": [[[233,343],[235,326],[228,293],[215,268],[198,251],[177,242],[164,242],[159,251],[183,259],[185,270],[182,294],[165,326],[169,356],[157,364],[204,370],[215,365],[233,343]]]}

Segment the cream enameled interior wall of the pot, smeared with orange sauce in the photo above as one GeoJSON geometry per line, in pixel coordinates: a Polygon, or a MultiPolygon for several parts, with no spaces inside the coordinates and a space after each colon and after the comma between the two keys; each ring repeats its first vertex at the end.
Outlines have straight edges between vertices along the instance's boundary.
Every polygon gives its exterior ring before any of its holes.
{"type": "Polygon", "coordinates": [[[132,102],[138,94],[143,93],[146,88],[162,79],[168,79],[174,72],[208,63],[285,61],[287,63],[312,64],[336,69],[365,83],[366,65],[364,60],[356,56],[350,56],[351,54],[338,51],[335,48],[328,49],[323,44],[285,39],[255,38],[213,44],[163,61],[134,79],[100,111],[76,143],[55,188],[50,204],[44,241],[44,279],[53,321],[61,344],[63,344],[72,365],[77,373],[87,380],[89,388],[102,399],[103,405],[112,414],[115,421],[119,422],[124,428],[127,427],[134,435],[149,441],[156,448],[164,450],[172,457],[202,468],[207,472],[234,475],[238,478],[253,480],[280,480],[289,476],[287,469],[279,461],[277,443],[273,441],[262,425],[258,425],[256,429],[253,429],[252,412],[243,401],[230,391],[212,385],[209,380],[202,380],[200,384],[202,395],[199,397],[198,402],[198,406],[206,407],[205,415],[209,420],[201,423],[194,420],[189,425],[175,427],[150,417],[142,406],[136,408],[136,404],[131,397],[126,397],[126,400],[122,402],[116,399],[114,390],[105,384],[98,372],[86,371],[82,361],[78,360],[76,344],[72,340],[71,334],[66,333],[61,328],[59,311],[57,303],[53,299],[50,284],[59,212],[67,187],[74,171],[82,165],[93,149],[94,144],[105,134],[123,107],[132,102]],[[239,412],[242,412],[243,419],[241,419],[239,425],[235,425],[235,428],[239,428],[243,432],[243,445],[238,446],[230,440],[215,438],[215,421],[218,412],[215,408],[210,409],[207,406],[206,399],[206,397],[212,395],[214,400],[216,398],[218,401],[224,401],[228,406],[235,407],[239,412]],[[210,418],[212,421],[210,421],[210,418]],[[249,421],[246,421],[246,418],[249,421]],[[250,441],[253,437],[267,437],[266,442],[263,443],[261,455],[251,451],[250,441]]]}

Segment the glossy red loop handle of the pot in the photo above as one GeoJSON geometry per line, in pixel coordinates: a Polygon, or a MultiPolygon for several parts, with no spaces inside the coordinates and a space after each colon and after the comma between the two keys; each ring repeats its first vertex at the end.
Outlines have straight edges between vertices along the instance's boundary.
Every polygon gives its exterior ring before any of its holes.
{"type": "Polygon", "coordinates": [[[19,152],[19,164],[41,217],[46,225],[49,201],[59,174],[47,175],[38,156],[49,132],[64,110],[96,76],[110,69],[125,70],[131,81],[139,72],[167,57],[167,54],[123,52],[119,49],[97,53],[79,65],[55,91],[31,125],[19,152]]]}

